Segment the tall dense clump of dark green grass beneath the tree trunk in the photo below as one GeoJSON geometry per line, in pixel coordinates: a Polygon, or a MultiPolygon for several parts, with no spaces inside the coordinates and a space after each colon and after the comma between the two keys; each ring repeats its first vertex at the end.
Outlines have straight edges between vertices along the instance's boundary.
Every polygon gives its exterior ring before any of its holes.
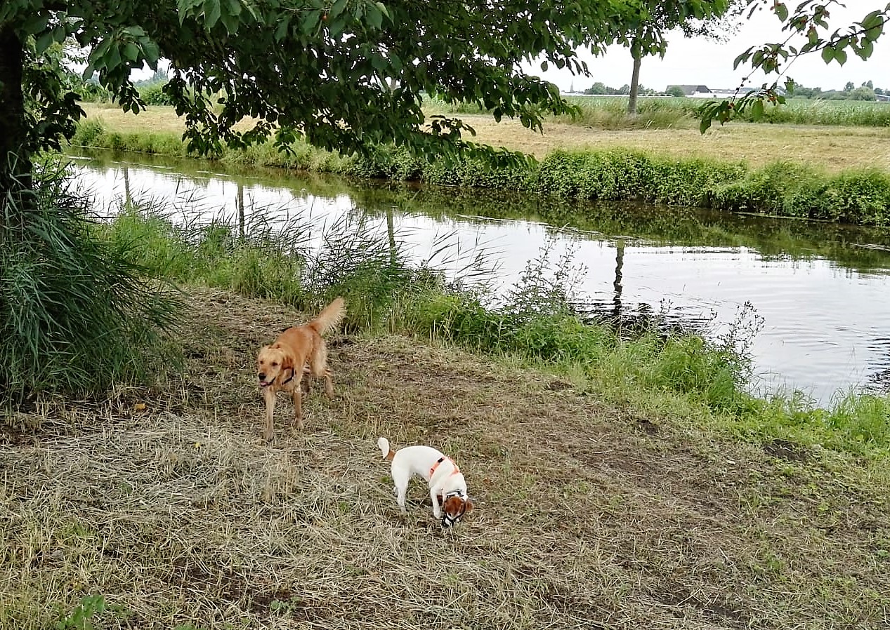
{"type": "Polygon", "coordinates": [[[57,163],[34,175],[28,207],[0,216],[0,405],[149,380],[175,359],[166,333],[181,301],[132,243],[95,236],[89,200],[57,163]]]}

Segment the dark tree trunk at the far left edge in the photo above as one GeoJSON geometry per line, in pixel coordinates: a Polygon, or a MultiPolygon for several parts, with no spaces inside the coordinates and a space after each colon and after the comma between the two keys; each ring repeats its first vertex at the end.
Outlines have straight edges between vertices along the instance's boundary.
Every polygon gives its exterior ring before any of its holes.
{"type": "Polygon", "coordinates": [[[20,200],[31,187],[25,98],[21,92],[24,47],[10,26],[0,27],[0,200],[20,200]],[[12,195],[9,195],[12,193],[12,195]]]}

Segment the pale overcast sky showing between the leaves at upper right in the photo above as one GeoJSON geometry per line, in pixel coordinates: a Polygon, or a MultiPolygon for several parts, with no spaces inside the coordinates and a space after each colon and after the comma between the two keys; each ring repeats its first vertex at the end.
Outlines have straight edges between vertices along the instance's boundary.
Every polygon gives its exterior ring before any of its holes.
{"type": "MultiPolygon", "coordinates": [[[[793,9],[793,4],[795,3],[790,2],[789,8],[793,9]]],[[[868,12],[883,8],[884,2],[846,0],[846,4],[846,8],[831,9],[829,24],[832,28],[846,27],[862,20],[868,12]]],[[[659,91],[673,84],[704,84],[712,90],[734,89],[740,84],[742,77],[750,72],[750,67],[740,65],[738,70],[733,70],[733,60],[749,46],[782,42],[786,36],[781,31],[781,23],[775,14],[767,11],[756,12],[727,42],[712,42],[703,38],[686,39],[682,32],[672,32],[667,37],[667,54],[663,60],[658,56],[643,58],[640,83],[659,91]]],[[[528,71],[557,84],[563,91],[569,90],[573,85],[580,92],[595,81],[602,81],[603,84],[616,88],[630,84],[633,60],[627,48],[612,46],[605,56],[599,58],[589,52],[581,52],[579,56],[587,61],[591,76],[572,76],[568,70],[557,70],[552,66],[545,73],[541,73],[539,67],[528,68],[528,71]]],[[[773,76],[768,79],[771,84],[773,76]]],[[[859,86],[869,80],[875,87],[890,88],[890,32],[878,40],[868,61],[862,61],[848,50],[843,67],[838,66],[835,61],[826,65],[818,52],[811,53],[796,60],[786,76],[792,77],[797,84],[821,87],[822,90],[841,90],[847,81],[859,86]]],[[[759,74],[753,76],[749,84],[759,86],[766,80],[763,74],[759,74]]]]}

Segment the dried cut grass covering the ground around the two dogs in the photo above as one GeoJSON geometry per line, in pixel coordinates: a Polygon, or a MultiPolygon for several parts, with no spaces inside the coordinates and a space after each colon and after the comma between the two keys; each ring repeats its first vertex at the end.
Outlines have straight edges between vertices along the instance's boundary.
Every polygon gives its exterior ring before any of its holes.
{"type": "Polygon", "coordinates": [[[88,593],[117,607],[97,627],[890,621],[886,488],[855,467],[715,442],[404,338],[331,339],[335,402],[313,392],[297,434],[279,401],[267,446],[255,351],[303,316],[207,291],[192,307],[181,382],[4,432],[4,628],[49,626],[88,593]],[[453,455],[477,510],[443,531],[417,484],[402,517],[378,435],[453,455]]]}

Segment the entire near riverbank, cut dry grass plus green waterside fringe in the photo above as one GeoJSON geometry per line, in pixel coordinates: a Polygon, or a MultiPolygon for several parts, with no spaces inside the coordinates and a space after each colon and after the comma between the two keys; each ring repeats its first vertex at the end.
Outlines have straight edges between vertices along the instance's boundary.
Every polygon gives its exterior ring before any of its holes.
{"type": "Polygon", "coordinates": [[[4,418],[0,626],[886,626],[886,399],[753,399],[732,340],[584,326],[543,255],[495,308],[362,224],[162,213],[95,229],[184,284],[182,370],[4,418]],[[256,349],[335,294],[336,400],[262,443],[256,349]],[[477,509],[442,532],[414,485],[402,517],[378,435],[477,509]]]}

